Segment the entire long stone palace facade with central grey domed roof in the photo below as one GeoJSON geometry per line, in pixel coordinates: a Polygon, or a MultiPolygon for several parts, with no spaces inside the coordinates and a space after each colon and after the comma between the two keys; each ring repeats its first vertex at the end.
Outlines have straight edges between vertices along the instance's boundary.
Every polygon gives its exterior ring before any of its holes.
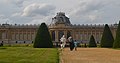
{"type": "MultiPolygon", "coordinates": [[[[16,43],[33,43],[37,29],[40,25],[11,25],[0,24],[0,42],[6,44],[16,43]]],[[[116,34],[116,24],[109,25],[113,36],[116,34]]],[[[52,40],[59,42],[59,39],[65,35],[68,38],[70,35],[77,41],[86,43],[90,36],[95,37],[96,42],[100,42],[104,25],[73,25],[64,12],[59,12],[52,18],[51,24],[48,25],[52,40]]]]}

